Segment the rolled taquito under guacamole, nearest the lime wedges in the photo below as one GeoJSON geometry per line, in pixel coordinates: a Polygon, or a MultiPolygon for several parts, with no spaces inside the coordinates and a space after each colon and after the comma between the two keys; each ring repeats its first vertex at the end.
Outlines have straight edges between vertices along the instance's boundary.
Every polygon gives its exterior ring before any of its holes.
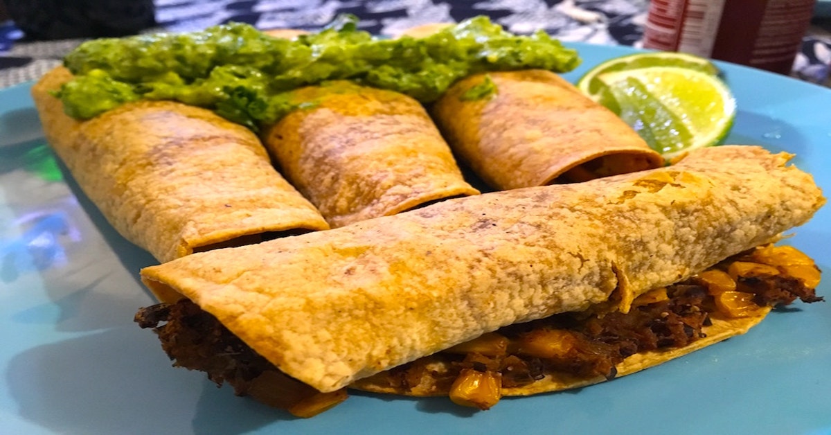
{"type": "Polygon", "coordinates": [[[453,150],[495,189],[643,171],[661,155],[553,72],[489,72],[455,83],[431,113],[453,150]],[[492,82],[492,93],[470,96],[492,82]]]}

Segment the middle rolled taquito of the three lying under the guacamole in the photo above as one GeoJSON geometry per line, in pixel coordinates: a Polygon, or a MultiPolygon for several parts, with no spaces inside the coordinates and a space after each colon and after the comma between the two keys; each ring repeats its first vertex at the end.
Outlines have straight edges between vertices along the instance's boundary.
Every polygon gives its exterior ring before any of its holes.
{"type": "Polygon", "coordinates": [[[292,95],[306,106],[269,127],[263,142],[332,227],[479,194],[411,97],[351,82],[292,95]]]}

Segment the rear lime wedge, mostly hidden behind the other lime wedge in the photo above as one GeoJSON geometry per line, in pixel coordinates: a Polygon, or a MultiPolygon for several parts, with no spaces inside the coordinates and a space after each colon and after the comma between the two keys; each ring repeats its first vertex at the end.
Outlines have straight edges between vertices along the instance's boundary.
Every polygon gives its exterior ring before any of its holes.
{"type": "Polygon", "coordinates": [[[646,52],[614,57],[593,67],[580,77],[577,87],[583,93],[591,96],[595,101],[601,101],[605,86],[598,78],[608,72],[634,70],[650,67],[681,67],[705,72],[712,76],[719,73],[719,69],[704,57],[679,52],[646,52]]]}

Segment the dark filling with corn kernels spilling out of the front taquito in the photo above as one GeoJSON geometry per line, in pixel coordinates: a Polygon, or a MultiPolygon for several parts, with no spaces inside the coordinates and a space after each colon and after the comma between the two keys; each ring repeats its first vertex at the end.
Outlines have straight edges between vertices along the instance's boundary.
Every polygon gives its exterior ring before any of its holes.
{"type": "MultiPolygon", "coordinates": [[[[700,274],[642,294],[627,313],[563,313],[514,324],[372,377],[391,390],[418,396],[449,394],[487,409],[502,388],[521,388],[549,373],[575,380],[616,376],[616,365],[645,351],[683,348],[706,337],[712,319],[764,316],[769,307],[823,300],[820,271],[789,246],[765,245],[700,274]]],[[[208,373],[238,395],[250,395],[302,417],[346,398],[319,393],[281,373],[213,315],[189,299],[140,309],[135,321],[154,328],[174,365],[208,373]]]]}

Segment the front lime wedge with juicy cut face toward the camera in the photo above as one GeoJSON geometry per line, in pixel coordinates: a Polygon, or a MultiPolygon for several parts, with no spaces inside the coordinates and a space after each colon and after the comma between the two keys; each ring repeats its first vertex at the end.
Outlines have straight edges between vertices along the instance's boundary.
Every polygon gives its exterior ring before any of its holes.
{"type": "Polygon", "coordinates": [[[615,102],[612,110],[667,160],[719,143],[735,119],[730,89],[706,72],[644,67],[597,79],[615,102]]]}

